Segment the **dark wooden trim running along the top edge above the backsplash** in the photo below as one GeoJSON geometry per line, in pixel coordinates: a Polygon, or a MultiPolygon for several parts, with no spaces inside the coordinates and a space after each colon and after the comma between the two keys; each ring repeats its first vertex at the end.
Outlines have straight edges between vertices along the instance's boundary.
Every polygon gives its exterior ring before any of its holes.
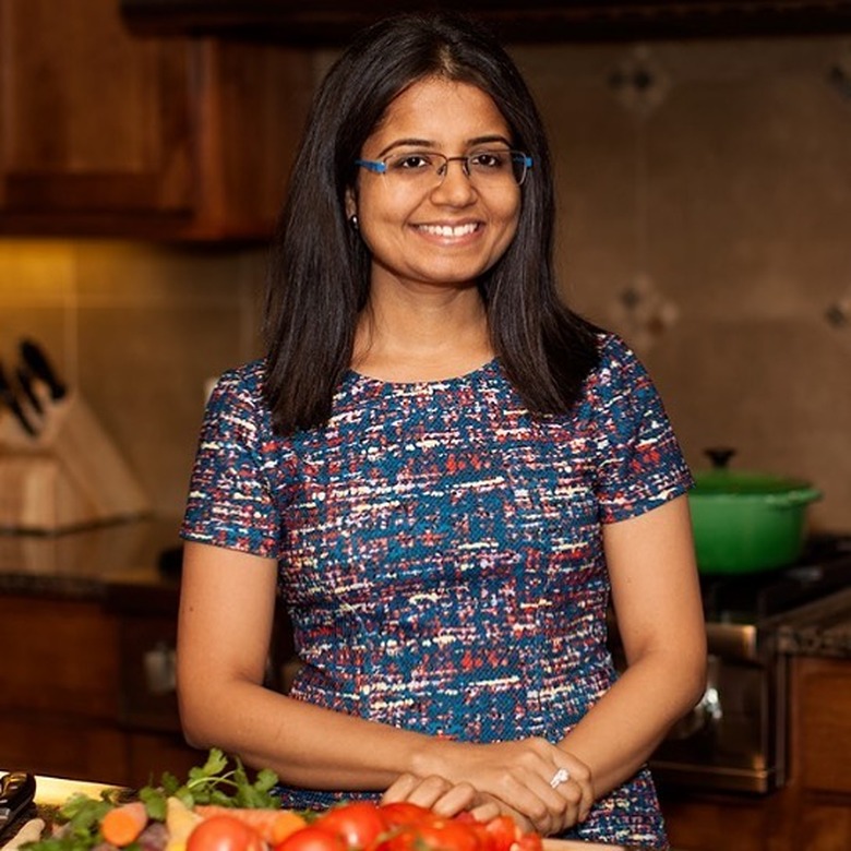
{"type": "MultiPolygon", "coordinates": [[[[120,0],[142,32],[216,33],[334,44],[391,12],[445,8],[438,0],[120,0]]],[[[507,40],[615,40],[847,32],[851,9],[819,0],[457,0],[507,40]]]]}

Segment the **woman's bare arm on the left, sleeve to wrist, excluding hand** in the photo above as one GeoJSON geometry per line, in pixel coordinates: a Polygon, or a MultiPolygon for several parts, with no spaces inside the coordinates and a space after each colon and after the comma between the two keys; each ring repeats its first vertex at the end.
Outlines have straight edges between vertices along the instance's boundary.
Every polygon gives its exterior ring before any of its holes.
{"type": "Polygon", "coordinates": [[[268,766],[297,786],[389,786],[424,736],[263,686],[276,563],[192,542],[184,553],[178,693],[187,739],[201,747],[223,747],[250,765],[268,766]]]}

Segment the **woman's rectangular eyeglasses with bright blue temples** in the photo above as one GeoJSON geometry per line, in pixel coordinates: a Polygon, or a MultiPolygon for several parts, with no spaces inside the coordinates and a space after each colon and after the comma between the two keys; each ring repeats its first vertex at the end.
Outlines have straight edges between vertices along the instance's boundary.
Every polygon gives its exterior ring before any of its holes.
{"type": "Polygon", "coordinates": [[[406,151],[384,159],[356,159],[362,168],[384,175],[394,185],[429,189],[446,177],[450,163],[462,164],[469,181],[477,187],[520,185],[532,166],[522,151],[477,151],[462,157],[447,157],[432,151],[406,151]]]}

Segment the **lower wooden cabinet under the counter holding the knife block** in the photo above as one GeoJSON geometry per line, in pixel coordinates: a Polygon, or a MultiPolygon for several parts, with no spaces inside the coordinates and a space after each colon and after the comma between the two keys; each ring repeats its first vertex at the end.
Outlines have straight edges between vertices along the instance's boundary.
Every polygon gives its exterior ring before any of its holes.
{"type": "MultiPolygon", "coordinates": [[[[128,712],[128,673],[142,674],[128,671],[122,633],[137,627],[147,646],[163,621],[127,624],[97,600],[0,596],[0,768],[142,786],[203,763],[173,708],[153,724],[128,712]]],[[[175,706],[173,692],[164,699],[175,706]]]]}

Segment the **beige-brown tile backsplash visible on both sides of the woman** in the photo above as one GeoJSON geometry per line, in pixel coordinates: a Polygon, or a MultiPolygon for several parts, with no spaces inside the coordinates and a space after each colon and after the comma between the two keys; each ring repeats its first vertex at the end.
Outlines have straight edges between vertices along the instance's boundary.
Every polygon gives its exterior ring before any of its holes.
{"type": "MultiPolygon", "coordinates": [[[[555,154],[565,298],[639,351],[695,468],[734,446],[851,530],[851,39],[512,52],[555,154]]],[[[263,248],[0,240],[0,359],[41,340],[178,517],[205,382],[259,353],[264,273],[263,248]]]]}

